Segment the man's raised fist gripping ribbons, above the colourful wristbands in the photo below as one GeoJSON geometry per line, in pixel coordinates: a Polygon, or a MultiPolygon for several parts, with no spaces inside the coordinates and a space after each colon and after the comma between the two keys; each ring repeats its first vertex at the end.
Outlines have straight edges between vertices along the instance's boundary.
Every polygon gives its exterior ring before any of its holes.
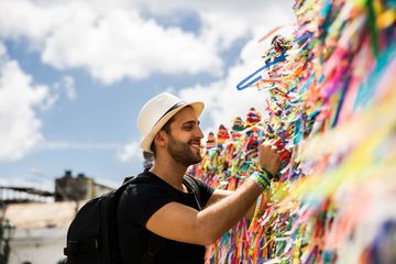
{"type": "Polygon", "coordinates": [[[275,141],[270,140],[260,145],[258,165],[268,170],[274,177],[280,168],[282,151],[278,151],[275,141]]]}

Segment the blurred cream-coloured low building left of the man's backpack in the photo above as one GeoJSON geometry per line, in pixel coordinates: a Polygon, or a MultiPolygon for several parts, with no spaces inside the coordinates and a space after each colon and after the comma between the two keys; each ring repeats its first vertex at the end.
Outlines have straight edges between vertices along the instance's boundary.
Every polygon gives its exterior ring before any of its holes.
{"type": "Polygon", "coordinates": [[[85,201],[9,205],[6,218],[15,227],[10,240],[10,264],[56,264],[64,258],[66,234],[85,201]]]}

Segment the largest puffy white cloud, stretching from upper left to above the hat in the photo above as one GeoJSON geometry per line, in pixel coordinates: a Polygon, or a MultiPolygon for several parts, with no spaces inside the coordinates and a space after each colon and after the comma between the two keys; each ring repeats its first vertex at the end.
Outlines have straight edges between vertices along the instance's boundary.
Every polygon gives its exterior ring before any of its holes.
{"type": "Polygon", "coordinates": [[[216,45],[180,28],[143,19],[132,8],[114,4],[105,12],[89,1],[2,1],[0,18],[0,36],[25,36],[43,62],[58,69],[85,68],[107,84],[153,73],[219,75],[222,69],[216,45]]]}

